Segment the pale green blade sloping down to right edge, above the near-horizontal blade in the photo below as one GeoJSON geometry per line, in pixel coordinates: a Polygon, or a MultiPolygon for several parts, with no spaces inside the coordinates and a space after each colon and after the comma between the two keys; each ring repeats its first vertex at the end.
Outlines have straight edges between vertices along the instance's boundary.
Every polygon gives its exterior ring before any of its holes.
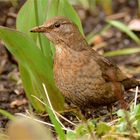
{"type": "Polygon", "coordinates": [[[125,24],[115,20],[107,20],[107,23],[126,33],[131,39],[140,45],[140,39],[125,24]]]}

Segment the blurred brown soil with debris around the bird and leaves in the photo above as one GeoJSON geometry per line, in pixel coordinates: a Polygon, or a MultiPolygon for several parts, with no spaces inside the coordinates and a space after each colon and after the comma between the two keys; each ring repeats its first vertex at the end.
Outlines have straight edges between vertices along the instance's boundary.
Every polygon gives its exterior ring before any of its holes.
{"type": "MultiPolygon", "coordinates": [[[[17,13],[24,3],[21,0],[17,6],[13,6],[11,2],[0,2],[0,25],[9,28],[15,28],[15,21],[17,13]]],[[[105,19],[115,19],[128,24],[133,19],[138,18],[137,2],[133,0],[116,0],[113,3],[112,13],[101,9],[98,6],[97,11],[89,11],[82,6],[75,6],[87,35],[93,31],[94,34],[98,33],[106,25],[105,19]]],[[[137,32],[139,35],[139,32],[137,32]]],[[[99,53],[117,50],[125,47],[139,47],[132,39],[121,31],[110,28],[105,34],[98,35],[91,41],[91,47],[96,49],[99,53]],[[100,46],[100,47],[99,47],[100,46]]],[[[140,57],[139,54],[131,54],[125,56],[109,57],[111,61],[118,64],[121,70],[128,76],[133,76],[140,79],[140,57]]],[[[131,102],[134,98],[134,89],[125,93],[125,100],[131,102]]],[[[2,41],[0,41],[0,108],[12,114],[25,112],[28,109],[28,99],[26,98],[20,73],[18,71],[18,64],[15,58],[6,50],[2,41]]],[[[117,110],[119,105],[115,103],[114,110],[117,110]]],[[[105,107],[96,109],[91,116],[99,117],[107,114],[105,107]]],[[[67,118],[69,113],[65,114],[67,118]]],[[[90,117],[91,117],[90,116],[90,117]]],[[[103,120],[106,120],[103,118],[103,120]]],[[[0,115],[0,127],[5,127],[8,119],[0,115]]]]}

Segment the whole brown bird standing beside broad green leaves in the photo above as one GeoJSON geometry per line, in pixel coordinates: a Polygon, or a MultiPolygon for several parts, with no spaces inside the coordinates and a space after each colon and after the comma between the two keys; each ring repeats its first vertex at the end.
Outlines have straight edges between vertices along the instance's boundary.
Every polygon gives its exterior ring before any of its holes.
{"type": "Polygon", "coordinates": [[[140,82],[125,76],[115,64],[90,48],[75,23],[58,16],[31,32],[42,32],[54,43],[54,79],[66,100],[80,109],[110,106],[117,100],[126,108],[124,90],[140,82]]]}

